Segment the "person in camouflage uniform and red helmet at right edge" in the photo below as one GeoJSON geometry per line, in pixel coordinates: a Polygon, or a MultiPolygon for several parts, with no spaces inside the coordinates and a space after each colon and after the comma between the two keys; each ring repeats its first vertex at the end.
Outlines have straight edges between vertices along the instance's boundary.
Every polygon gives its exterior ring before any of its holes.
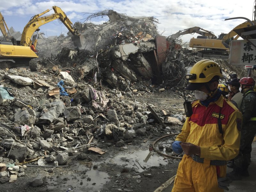
{"type": "Polygon", "coordinates": [[[255,81],[251,77],[244,77],[240,81],[239,90],[244,94],[240,111],[243,115],[239,155],[234,160],[234,169],[227,174],[232,180],[248,177],[248,167],[251,162],[252,141],[256,134],[256,92],[253,91],[255,81]]]}

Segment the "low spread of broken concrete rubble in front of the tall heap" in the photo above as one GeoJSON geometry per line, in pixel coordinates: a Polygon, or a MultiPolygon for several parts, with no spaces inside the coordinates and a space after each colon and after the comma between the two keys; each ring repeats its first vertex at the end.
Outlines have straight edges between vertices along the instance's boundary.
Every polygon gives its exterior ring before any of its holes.
{"type": "Polygon", "coordinates": [[[152,122],[165,127],[165,121],[182,124],[184,120],[181,114],[171,118],[172,113],[134,99],[147,92],[138,91],[139,84],[130,85],[132,92],[92,87],[65,78],[62,71],[52,73],[51,68],[37,73],[12,68],[1,70],[0,76],[2,183],[24,176],[24,164],[63,166],[68,156],[87,158],[84,149],[103,154],[97,144],[100,139],[121,147],[136,135],[154,133],[152,122]]]}

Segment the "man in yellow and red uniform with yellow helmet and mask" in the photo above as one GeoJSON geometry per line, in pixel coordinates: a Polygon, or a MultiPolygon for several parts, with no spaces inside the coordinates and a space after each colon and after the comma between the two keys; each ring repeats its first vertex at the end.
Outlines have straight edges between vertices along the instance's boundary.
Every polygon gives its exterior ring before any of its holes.
{"type": "Polygon", "coordinates": [[[172,192],[223,192],[231,182],[226,178],[226,161],[239,153],[242,114],[221,96],[222,72],[212,60],[198,61],[186,76],[195,91],[192,115],[172,144],[180,161],[172,192]]]}

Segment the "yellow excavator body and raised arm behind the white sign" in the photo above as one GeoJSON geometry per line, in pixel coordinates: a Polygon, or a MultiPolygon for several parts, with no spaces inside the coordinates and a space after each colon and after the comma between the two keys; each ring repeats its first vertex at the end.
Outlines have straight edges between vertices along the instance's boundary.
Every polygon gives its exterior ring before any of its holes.
{"type": "MultiPolygon", "coordinates": [[[[255,23],[255,21],[252,21],[255,23]]],[[[252,24],[248,21],[236,26],[234,29],[249,27],[252,24]]],[[[238,39],[239,35],[232,29],[229,33],[221,33],[217,39],[209,39],[207,36],[200,36],[200,38],[191,38],[189,41],[189,47],[206,49],[200,52],[202,53],[224,53],[228,54],[229,42],[231,40],[238,39]],[[236,36],[236,37],[234,37],[236,36]]]]}

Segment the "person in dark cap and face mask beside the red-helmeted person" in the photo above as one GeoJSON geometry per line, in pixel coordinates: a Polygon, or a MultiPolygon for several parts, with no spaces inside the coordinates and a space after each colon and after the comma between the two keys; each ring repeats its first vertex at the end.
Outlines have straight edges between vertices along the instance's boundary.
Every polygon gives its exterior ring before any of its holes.
{"type": "Polygon", "coordinates": [[[233,103],[239,109],[243,99],[243,93],[239,91],[239,79],[234,78],[231,81],[226,82],[226,84],[228,84],[229,99],[231,103],[233,103]]]}

